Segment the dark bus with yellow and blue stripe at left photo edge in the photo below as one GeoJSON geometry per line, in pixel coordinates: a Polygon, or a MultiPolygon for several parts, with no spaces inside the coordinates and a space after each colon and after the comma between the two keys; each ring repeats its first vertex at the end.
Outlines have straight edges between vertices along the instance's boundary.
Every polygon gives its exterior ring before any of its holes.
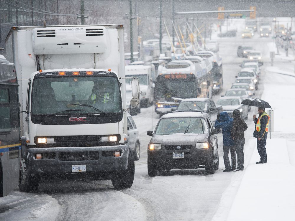
{"type": "Polygon", "coordinates": [[[14,64],[0,55],[0,197],[19,184],[20,154],[17,76],[14,64]]]}

